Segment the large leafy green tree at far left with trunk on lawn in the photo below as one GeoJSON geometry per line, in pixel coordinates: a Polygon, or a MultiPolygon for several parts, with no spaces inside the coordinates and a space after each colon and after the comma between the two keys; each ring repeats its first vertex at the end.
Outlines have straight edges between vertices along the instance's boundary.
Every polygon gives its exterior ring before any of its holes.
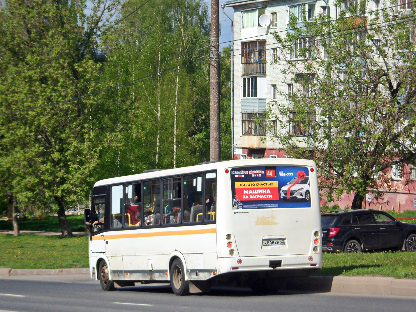
{"type": "MultiPolygon", "coordinates": [[[[0,20],[0,154],[12,172],[2,192],[18,204],[65,210],[85,201],[95,179],[107,108],[99,79],[99,33],[119,2],[6,0],[0,20]]],[[[3,182],[3,181],[2,181],[3,182]]]]}

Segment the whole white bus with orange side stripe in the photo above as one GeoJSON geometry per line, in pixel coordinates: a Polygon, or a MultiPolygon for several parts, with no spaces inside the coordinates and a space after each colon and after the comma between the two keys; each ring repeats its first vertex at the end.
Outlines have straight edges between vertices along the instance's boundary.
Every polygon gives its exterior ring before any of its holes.
{"type": "Polygon", "coordinates": [[[170,283],[184,295],[235,283],[261,292],[322,267],[312,160],[208,162],[104,179],[85,221],[91,277],[104,290],[170,283]]]}

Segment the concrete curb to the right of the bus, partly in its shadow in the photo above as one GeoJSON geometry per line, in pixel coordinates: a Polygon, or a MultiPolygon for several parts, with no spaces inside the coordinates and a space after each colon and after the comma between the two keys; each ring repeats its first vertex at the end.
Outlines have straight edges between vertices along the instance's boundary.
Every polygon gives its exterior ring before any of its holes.
{"type": "Polygon", "coordinates": [[[307,290],[342,294],[411,296],[416,294],[416,279],[369,276],[311,276],[287,280],[288,290],[307,290]]]}

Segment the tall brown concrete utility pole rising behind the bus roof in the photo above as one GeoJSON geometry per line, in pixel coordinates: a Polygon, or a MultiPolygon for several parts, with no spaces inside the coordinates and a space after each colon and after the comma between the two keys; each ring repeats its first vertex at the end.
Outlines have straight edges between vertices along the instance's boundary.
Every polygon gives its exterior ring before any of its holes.
{"type": "Polygon", "coordinates": [[[220,160],[220,6],[211,0],[210,160],[220,160]]]}

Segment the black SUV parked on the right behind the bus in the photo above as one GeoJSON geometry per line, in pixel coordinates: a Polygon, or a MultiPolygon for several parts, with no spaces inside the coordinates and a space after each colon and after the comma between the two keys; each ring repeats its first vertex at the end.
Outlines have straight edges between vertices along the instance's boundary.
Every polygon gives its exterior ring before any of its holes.
{"type": "Polygon", "coordinates": [[[416,251],[416,224],[399,222],[384,211],[336,210],[322,214],[321,224],[322,251],[416,251]]]}

